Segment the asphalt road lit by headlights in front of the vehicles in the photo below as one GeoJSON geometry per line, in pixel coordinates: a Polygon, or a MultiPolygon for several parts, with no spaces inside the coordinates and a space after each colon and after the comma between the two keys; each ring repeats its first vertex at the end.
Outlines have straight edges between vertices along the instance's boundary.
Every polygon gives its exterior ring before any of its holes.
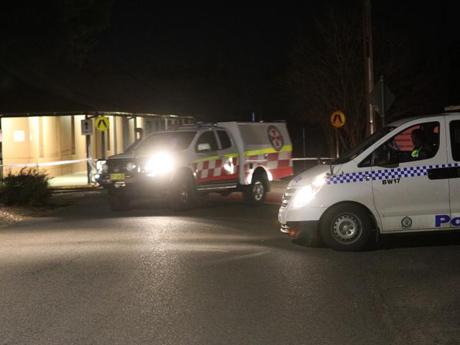
{"type": "Polygon", "coordinates": [[[98,193],[0,230],[0,344],[458,344],[460,235],[359,253],[277,205],[112,213],[98,193]]]}

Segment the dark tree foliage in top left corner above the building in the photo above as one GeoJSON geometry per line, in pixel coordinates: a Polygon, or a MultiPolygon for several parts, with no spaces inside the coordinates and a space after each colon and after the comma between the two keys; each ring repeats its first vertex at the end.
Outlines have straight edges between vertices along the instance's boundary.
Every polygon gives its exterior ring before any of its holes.
{"type": "Polygon", "coordinates": [[[110,24],[113,0],[11,1],[2,8],[0,59],[32,64],[60,60],[82,67],[110,24]]]}

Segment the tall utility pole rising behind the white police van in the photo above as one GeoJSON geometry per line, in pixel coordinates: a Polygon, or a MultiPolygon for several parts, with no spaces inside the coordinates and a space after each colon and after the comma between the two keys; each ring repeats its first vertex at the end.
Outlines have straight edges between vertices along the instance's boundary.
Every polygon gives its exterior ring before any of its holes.
{"type": "Polygon", "coordinates": [[[371,0],[362,0],[362,38],[364,51],[364,107],[366,109],[366,135],[375,131],[374,108],[370,94],[374,88],[374,57],[372,54],[371,0]]]}

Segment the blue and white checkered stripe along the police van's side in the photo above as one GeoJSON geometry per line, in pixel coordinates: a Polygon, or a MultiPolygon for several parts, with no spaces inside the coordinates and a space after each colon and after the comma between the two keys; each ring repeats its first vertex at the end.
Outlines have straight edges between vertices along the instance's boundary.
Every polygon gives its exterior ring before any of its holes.
{"type": "Polygon", "coordinates": [[[386,180],[386,179],[408,179],[415,176],[427,176],[429,169],[454,168],[459,166],[457,163],[436,164],[424,166],[408,166],[406,168],[396,169],[378,169],[374,171],[358,171],[352,173],[343,173],[330,176],[328,184],[353,183],[362,181],[386,180]]]}

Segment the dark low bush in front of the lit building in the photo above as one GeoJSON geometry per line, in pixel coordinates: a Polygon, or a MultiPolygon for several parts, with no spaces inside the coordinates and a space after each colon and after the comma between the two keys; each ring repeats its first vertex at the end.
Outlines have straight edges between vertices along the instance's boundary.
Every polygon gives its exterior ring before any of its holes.
{"type": "Polygon", "coordinates": [[[17,174],[8,171],[0,181],[0,202],[5,205],[44,205],[51,196],[48,176],[38,168],[23,168],[17,174]]]}

